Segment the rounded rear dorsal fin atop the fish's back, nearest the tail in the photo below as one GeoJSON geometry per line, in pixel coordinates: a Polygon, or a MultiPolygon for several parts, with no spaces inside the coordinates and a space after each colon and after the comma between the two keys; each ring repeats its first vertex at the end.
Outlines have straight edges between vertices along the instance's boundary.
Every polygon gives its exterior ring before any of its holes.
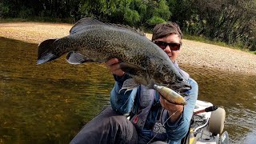
{"type": "Polygon", "coordinates": [[[78,33],[78,31],[82,31],[83,29],[85,29],[86,26],[94,26],[94,25],[106,25],[106,24],[94,18],[82,18],[78,22],[76,22],[74,26],[72,26],[72,28],[70,29],[70,34],[76,34],[78,33]]]}

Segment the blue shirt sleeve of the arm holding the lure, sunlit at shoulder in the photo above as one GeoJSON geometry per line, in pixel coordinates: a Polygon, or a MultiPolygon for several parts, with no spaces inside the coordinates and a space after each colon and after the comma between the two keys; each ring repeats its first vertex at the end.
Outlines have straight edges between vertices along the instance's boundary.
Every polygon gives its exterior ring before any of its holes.
{"type": "Polygon", "coordinates": [[[195,103],[198,99],[198,83],[192,78],[189,78],[188,82],[192,89],[187,91],[188,96],[186,96],[186,105],[184,106],[183,112],[178,120],[176,122],[168,121],[167,119],[169,118],[169,115],[167,114],[167,110],[162,114],[162,119],[166,122],[166,134],[170,139],[169,143],[180,141],[189,131],[190,120],[194,112],[195,103]]]}

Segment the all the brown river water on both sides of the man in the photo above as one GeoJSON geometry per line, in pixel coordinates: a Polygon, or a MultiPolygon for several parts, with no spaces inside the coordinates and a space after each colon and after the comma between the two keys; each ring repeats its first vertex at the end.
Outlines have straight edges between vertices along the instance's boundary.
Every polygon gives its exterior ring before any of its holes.
{"type": "MultiPolygon", "coordinates": [[[[68,143],[109,104],[114,79],[104,65],[35,65],[37,46],[0,38],[0,143],[68,143]]],[[[199,99],[226,110],[230,143],[256,140],[256,75],[182,65],[199,99]]]]}

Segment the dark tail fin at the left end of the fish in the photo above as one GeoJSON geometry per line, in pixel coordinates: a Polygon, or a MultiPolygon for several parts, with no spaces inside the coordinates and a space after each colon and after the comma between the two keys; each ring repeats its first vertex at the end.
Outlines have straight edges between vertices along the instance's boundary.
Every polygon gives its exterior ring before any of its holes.
{"type": "Polygon", "coordinates": [[[38,45],[38,62],[37,64],[42,64],[44,62],[50,62],[56,58],[59,58],[59,54],[54,54],[53,43],[58,39],[47,39],[39,43],[38,45]]]}

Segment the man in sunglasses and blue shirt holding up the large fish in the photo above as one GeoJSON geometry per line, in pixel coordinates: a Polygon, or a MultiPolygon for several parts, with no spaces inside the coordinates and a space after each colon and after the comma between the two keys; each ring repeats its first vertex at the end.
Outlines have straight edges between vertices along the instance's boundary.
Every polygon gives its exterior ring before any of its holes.
{"type": "Polygon", "coordinates": [[[146,90],[145,86],[126,92],[121,90],[123,82],[130,77],[120,69],[119,60],[112,58],[106,62],[116,81],[110,94],[111,107],[88,122],[70,143],[180,143],[189,130],[198,98],[197,82],[176,62],[181,39],[182,31],[174,22],[154,27],[152,42],[166,52],[192,86],[186,91],[185,106],[167,102],[158,92],[146,90]]]}

